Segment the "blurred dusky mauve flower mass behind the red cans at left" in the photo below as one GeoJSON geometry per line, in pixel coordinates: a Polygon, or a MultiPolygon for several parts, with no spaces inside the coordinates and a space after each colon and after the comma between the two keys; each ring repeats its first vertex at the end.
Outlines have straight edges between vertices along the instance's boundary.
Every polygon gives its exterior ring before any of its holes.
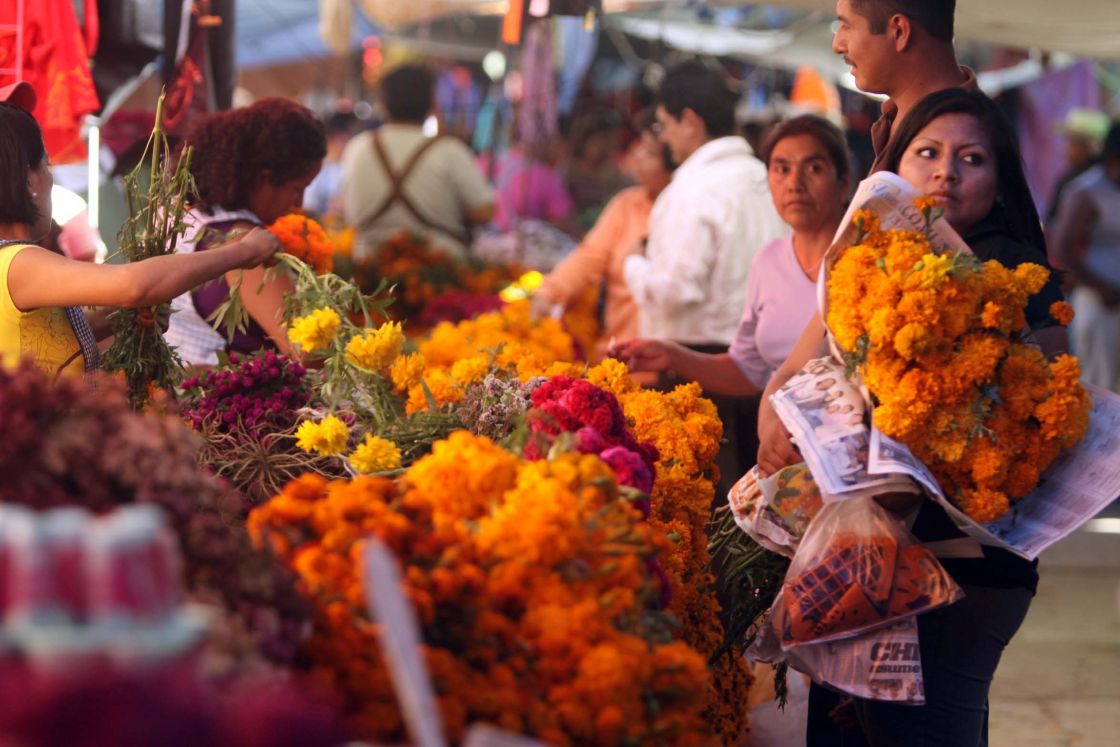
{"type": "Polygon", "coordinates": [[[0,366],[0,498],[96,513],[159,506],[179,539],[188,598],[222,605],[269,660],[296,659],[310,614],[296,576],[253,545],[244,496],[198,465],[200,439],[178,417],[133,412],[108,375],[53,381],[25,362],[0,366]]]}

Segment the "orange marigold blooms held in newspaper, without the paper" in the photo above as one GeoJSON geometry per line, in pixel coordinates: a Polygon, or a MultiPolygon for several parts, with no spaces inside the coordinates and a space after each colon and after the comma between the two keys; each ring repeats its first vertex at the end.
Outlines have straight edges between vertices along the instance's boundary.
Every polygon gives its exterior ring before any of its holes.
{"type": "MultiPolygon", "coordinates": [[[[1089,427],[1077,360],[1048,361],[1024,309],[1048,271],[1008,269],[931,246],[926,232],[883,231],[856,214],[860,235],[831,267],[827,323],[871,393],[875,424],[905,443],[945,495],[979,523],[1005,515],[1089,427]]],[[[1051,312],[1068,320],[1068,307],[1051,312]]]]}

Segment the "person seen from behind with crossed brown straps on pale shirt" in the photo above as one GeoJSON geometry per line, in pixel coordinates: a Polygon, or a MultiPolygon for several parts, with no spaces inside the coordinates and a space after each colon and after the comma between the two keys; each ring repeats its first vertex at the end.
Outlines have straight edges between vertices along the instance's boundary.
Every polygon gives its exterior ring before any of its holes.
{"type": "Polygon", "coordinates": [[[494,193],[459,139],[429,137],[435,81],[420,65],[401,65],[381,81],[388,121],[353,138],[343,151],[343,214],[356,227],[355,259],[373,256],[401,231],[424,235],[456,256],[472,230],[494,216],[494,193]]]}

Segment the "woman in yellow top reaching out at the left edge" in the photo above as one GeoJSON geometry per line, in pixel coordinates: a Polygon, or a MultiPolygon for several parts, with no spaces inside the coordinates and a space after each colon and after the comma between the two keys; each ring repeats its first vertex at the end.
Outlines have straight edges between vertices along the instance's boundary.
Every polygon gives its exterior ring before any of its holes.
{"type": "Polygon", "coordinates": [[[36,245],[50,230],[54,178],[39,125],[0,103],[0,365],[30,357],[45,372],[96,365],[96,346],[77,307],[139,308],[167,301],[279,251],[268,231],[200,254],[172,254],[123,265],[76,262],[36,245]]]}

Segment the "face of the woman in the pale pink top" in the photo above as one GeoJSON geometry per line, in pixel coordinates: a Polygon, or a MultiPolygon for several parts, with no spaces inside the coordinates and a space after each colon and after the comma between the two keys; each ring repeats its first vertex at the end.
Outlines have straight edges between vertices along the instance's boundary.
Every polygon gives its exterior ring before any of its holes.
{"type": "Polygon", "coordinates": [[[839,225],[848,185],[816,138],[793,134],[778,140],[768,174],[774,207],[795,232],[832,231],[839,225]]]}

